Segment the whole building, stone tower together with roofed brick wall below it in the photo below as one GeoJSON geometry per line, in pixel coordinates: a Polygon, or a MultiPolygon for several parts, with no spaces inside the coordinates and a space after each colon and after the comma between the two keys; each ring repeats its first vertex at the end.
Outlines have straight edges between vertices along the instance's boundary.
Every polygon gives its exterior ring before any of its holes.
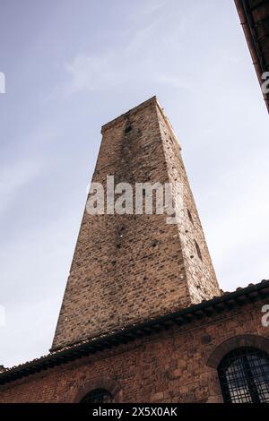
{"type": "Polygon", "coordinates": [[[269,401],[269,281],[219,288],[156,97],[102,127],[92,182],[106,197],[111,177],[169,184],[179,218],[145,202],[130,214],[86,206],[52,348],[0,373],[0,402],[269,401]]]}

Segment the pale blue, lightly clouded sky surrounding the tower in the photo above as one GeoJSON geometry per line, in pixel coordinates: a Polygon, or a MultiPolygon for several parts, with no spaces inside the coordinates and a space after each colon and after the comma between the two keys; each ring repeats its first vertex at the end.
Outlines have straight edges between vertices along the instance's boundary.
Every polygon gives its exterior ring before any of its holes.
{"type": "Polygon", "coordinates": [[[157,95],[224,290],[268,278],[268,116],[233,0],[0,0],[0,365],[48,352],[100,126],[157,95]]]}

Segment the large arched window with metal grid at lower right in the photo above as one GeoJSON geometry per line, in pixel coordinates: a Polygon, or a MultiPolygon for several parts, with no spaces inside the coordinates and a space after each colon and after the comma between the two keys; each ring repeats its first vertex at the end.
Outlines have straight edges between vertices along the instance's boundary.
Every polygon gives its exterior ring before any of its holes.
{"type": "Polygon", "coordinates": [[[269,402],[269,356],[257,348],[237,348],[218,366],[224,402],[269,402]]]}

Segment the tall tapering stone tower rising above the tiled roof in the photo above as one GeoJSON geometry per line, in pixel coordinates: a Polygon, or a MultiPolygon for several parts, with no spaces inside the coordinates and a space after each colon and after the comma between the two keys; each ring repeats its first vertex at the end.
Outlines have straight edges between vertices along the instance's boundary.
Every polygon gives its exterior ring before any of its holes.
{"type": "Polygon", "coordinates": [[[180,146],[156,97],[101,133],[92,181],[179,181],[181,218],[84,211],[52,350],[220,295],[180,146]]]}

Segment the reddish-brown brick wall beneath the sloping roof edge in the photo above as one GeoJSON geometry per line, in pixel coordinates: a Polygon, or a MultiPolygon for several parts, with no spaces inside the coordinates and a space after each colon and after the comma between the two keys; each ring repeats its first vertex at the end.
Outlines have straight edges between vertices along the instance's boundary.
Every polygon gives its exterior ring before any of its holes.
{"type": "Polygon", "coordinates": [[[218,375],[209,360],[220,344],[242,334],[269,339],[261,324],[263,304],[244,305],[33,374],[0,387],[0,402],[74,402],[97,387],[107,388],[119,402],[221,402],[218,375]]]}

